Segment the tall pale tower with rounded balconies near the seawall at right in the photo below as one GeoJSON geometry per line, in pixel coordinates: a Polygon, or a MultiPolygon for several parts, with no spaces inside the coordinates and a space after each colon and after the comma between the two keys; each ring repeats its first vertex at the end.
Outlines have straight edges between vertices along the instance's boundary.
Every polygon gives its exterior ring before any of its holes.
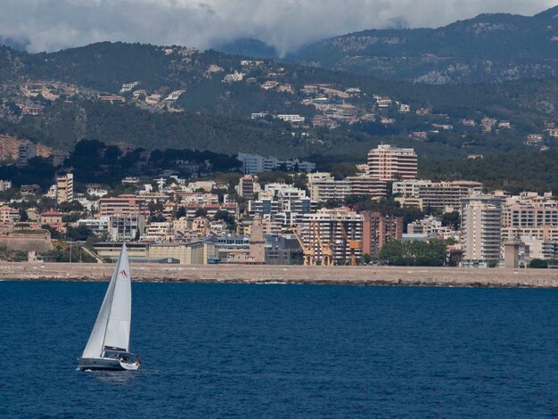
{"type": "Polygon", "coordinates": [[[499,261],[502,254],[502,201],[474,195],[463,201],[461,232],[465,263],[499,261]]]}

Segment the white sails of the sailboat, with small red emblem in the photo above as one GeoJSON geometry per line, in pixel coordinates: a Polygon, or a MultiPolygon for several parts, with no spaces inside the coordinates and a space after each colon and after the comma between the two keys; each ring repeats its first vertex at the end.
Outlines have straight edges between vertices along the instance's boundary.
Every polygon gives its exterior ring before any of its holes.
{"type": "Polygon", "coordinates": [[[105,346],[128,350],[131,314],[132,289],[124,244],[82,357],[101,357],[105,346]]]}

